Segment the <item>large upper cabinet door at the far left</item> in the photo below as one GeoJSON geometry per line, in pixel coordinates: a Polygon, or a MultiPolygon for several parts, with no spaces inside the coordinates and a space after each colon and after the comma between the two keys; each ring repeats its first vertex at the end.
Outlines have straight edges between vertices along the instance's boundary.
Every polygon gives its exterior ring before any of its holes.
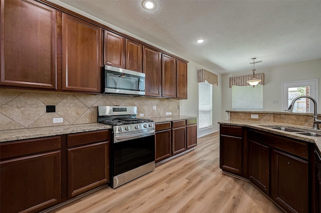
{"type": "Polygon", "coordinates": [[[1,85],[56,89],[56,10],[1,0],[1,14],[1,85]]]}

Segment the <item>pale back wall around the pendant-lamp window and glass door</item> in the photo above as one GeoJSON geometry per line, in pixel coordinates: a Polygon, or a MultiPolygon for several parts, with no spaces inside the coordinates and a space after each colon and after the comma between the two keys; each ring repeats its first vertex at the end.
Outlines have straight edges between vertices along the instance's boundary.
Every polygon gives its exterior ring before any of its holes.
{"type": "MultiPolygon", "coordinates": [[[[264,63],[264,61],[262,63],[264,63]]],[[[264,72],[263,111],[282,111],[282,82],[317,78],[319,84],[321,84],[321,59],[269,68],[259,68],[259,66],[255,66],[255,68],[257,69],[257,73],[264,72]],[[277,100],[278,103],[273,103],[273,100],[277,100]]],[[[222,113],[225,112],[225,110],[232,110],[232,88],[229,88],[229,77],[244,74],[251,74],[251,69],[249,68],[249,70],[246,71],[224,74],[222,76],[222,113]]],[[[320,88],[321,85],[318,86],[318,113],[321,113],[320,88]]],[[[224,117],[227,119],[226,112],[224,117]]]]}

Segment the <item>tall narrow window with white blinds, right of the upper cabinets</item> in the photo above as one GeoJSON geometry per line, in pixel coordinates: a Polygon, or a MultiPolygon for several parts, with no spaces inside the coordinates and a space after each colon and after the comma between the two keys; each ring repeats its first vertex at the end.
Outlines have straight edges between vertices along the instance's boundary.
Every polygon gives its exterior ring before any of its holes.
{"type": "Polygon", "coordinates": [[[212,126],[212,87],[207,81],[199,82],[199,130],[212,126]]]}

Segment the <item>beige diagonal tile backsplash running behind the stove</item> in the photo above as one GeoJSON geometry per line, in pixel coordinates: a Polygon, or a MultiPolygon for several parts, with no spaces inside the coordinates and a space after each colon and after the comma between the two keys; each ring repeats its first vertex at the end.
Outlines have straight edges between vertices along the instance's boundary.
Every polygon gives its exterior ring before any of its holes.
{"type": "Polygon", "coordinates": [[[180,115],[178,99],[2,88],[0,130],[97,122],[98,105],[137,106],[137,117],[140,113],[143,117],[180,115]],[[46,105],[55,105],[56,112],[46,112],[46,105]],[[53,123],[56,117],[62,117],[63,123],[53,123]]]}

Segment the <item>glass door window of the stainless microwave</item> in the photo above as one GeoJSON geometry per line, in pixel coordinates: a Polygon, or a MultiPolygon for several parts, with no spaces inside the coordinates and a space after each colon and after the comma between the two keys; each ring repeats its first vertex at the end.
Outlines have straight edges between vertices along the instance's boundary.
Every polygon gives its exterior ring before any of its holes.
{"type": "Polygon", "coordinates": [[[111,70],[106,71],[106,87],[114,89],[138,90],[140,76],[121,73],[111,70]]]}

